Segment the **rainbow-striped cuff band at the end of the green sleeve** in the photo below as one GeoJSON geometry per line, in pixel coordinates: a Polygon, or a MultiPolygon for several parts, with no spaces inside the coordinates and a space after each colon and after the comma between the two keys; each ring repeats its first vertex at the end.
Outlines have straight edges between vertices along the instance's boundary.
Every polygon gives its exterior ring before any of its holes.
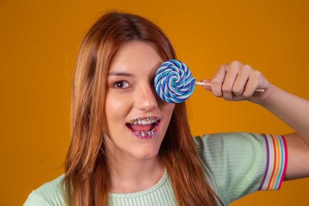
{"type": "Polygon", "coordinates": [[[263,134],[267,147],[267,165],[259,190],[278,190],[281,187],[287,165],[287,149],[284,136],[263,134]]]}

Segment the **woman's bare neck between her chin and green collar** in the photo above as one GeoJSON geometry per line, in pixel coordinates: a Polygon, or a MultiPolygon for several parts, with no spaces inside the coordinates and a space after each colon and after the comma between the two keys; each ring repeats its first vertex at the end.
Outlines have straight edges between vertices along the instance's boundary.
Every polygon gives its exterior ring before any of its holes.
{"type": "Polygon", "coordinates": [[[112,193],[133,193],[148,189],[162,178],[165,171],[159,155],[151,160],[113,159],[109,167],[112,193]]]}

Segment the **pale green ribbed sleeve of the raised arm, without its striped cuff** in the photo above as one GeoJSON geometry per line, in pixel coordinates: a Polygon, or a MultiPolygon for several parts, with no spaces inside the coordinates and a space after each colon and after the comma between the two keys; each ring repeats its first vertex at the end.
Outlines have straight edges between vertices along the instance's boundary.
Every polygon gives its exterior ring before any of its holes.
{"type": "Polygon", "coordinates": [[[258,190],[266,165],[265,140],[256,133],[204,134],[194,138],[210,182],[227,204],[258,190]]]}

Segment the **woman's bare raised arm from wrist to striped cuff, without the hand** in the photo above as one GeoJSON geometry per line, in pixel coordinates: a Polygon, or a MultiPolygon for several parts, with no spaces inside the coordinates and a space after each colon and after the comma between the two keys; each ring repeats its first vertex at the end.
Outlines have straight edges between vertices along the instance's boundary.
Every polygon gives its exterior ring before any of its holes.
{"type": "Polygon", "coordinates": [[[288,164],[285,179],[309,176],[309,101],[270,84],[268,98],[258,102],[291,126],[296,133],[286,134],[288,164]]]}

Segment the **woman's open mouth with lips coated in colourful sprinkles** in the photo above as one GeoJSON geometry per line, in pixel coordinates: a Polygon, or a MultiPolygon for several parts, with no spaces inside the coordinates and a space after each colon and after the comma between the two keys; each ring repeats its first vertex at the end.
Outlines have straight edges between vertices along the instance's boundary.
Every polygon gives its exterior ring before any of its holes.
{"type": "Polygon", "coordinates": [[[125,126],[127,129],[137,137],[152,138],[159,126],[160,118],[150,116],[141,117],[128,121],[125,126]]]}

